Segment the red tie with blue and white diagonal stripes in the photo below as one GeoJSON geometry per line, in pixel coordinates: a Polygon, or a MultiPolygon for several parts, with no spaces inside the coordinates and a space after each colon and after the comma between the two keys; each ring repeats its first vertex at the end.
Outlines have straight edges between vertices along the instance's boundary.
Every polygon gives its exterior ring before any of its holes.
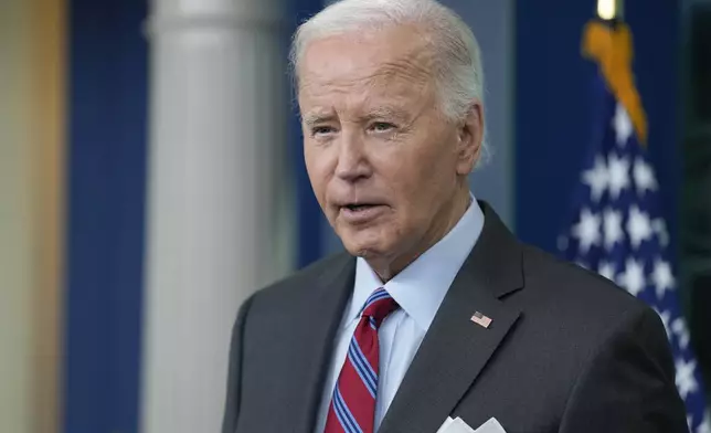
{"type": "Polygon", "coordinates": [[[384,288],[373,292],[361,310],[348,356],[331,397],[325,433],[373,433],[378,395],[378,328],[397,308],[384,288]]]}

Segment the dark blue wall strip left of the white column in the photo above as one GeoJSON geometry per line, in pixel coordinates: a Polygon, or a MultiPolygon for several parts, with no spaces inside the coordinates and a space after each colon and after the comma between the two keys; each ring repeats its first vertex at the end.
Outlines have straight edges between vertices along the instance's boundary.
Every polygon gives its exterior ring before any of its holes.
{"type": "Polygon", "coordinates": [[[147,3],[70,8],[64,432],[137,432],[147,3]]]}

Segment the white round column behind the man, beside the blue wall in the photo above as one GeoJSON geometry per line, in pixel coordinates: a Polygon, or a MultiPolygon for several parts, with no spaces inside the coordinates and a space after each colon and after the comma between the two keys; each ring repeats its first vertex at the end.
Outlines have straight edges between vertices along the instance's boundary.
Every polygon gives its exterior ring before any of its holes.
{"type": "Polygon", "coordinates": [[[142,433],[219,432],[244,298],[291,266],[280,0],[153,0],[142,433]]]}

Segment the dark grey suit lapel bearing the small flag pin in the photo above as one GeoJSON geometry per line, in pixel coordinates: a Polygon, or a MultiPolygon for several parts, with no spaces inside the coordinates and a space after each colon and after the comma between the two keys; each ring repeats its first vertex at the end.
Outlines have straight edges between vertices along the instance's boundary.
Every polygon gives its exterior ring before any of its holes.
{"type": "Polygon", "coordinates": [[[523,286],[520,244],[486,204],[485,226],[437,310],[379,433],[436,432],[521,311],[500,298],[523,286]],[[487,327],[471,316],[491,319],[487,327]]]}

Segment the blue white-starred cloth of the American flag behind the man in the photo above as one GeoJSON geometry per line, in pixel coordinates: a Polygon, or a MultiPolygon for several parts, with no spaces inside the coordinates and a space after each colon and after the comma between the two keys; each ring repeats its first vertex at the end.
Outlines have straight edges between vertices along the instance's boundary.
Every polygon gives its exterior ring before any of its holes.
{"type": "Polygon", "coordinates": [[[595,84],[601,104],[593,146],[559,249],[564,258],[617,283],[659,314],[675,357],[676,383],[687,406],[689,429],[711,433],[700,371],[677,297],[655,169],[630,116],[602,73],[595,84]]]}

